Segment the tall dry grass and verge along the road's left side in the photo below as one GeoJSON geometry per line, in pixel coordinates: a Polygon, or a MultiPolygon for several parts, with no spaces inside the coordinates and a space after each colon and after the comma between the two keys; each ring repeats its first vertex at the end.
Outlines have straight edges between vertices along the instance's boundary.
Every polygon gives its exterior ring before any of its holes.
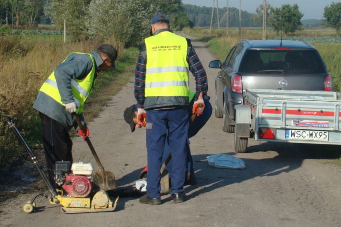
{"type": "MultiPolygon", "coordinates": [[[[41,123],[32,105],[41,85],[69,53],[90,53],[102,43],[110,43],[118,49],[117,69],[101,72],[96,79],[84,111],[88,121],[96,117],[110,96],[116,94],[134,75],[137,48],[125,50],[123,44],[114,38],[103,42],[92,40],[64,44],[60,36],[0,36],[1,123],[5,116],[10,116],[28,145],[40,147],[41,123]]],[[[1,124],[0,167],[21,155],[25,155],[23,146],[12,130],[1,124]]]]}

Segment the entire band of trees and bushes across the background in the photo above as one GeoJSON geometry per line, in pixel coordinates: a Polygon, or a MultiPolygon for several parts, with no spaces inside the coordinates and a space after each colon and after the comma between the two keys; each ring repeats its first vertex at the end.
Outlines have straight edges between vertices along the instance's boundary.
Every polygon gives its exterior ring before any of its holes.
{"type": "MultiPolygon", "coordinates": [[[[303,29],[303,13],[298,5],[267,6],[267,25],[285,34],[303,29]]],[[[0,24],[36,26],[53,23],[62,29],[66,21],[67,33],[75,40],[105,39],[115,36],[126,46],[139,43],[149,35],[149,20],[156,13],[170,17],[173,29],[207,27],[211,23],[212,7],[183,4],[181,0],[1,0],[0,24]],[[138,35],[137,35],[138,34],[138,35]]],[[[212,25],[218,27],[217,9],[214,9],[212,25]]],[[[228,9],[229,27],[238,27],[239,10],[228,9]]],[[[219,25],[226,26],[226,7],[219,8],[219,25]]],[[[335,28],[340,34],[341,2],[324,8],[323,24],[335,28]]],[[[242,27],[261,27],[263,5],[256,13],[241,11],[242,27]]]]}

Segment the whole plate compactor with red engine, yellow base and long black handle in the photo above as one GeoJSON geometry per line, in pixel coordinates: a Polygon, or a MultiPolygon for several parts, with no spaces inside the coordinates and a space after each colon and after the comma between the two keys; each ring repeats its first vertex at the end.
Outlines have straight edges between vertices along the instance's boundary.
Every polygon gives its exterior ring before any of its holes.
{"type": "Polygon", "coordinates": [[[105,191],[100,190],[92,182],[93,167],[91,163],[80,162],[71,165],[68,161],[57,162],[55,164],[55,181],[60,189],[54,189],[13,120],[10,117],[5,117],[5,121],[23,144],[49,190],[49,195],[39,193],[28,201],[23,206],[24,212],[31,213],[34,210],[36,206],[34,200],[38,196],[48,198],[50,204],[61,205],[61,210],[64,213],[92,213],[115,210],[118,197],[113,202],[105,191]]]}

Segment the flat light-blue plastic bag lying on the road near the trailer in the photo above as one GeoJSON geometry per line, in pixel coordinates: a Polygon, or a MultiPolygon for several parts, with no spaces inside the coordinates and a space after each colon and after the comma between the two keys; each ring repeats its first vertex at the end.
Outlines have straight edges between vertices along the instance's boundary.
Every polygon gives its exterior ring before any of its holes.
{"type": "Polygon", "coordinates": [[[240,158],[232,155],[217,154],[207,156],[207,161],[210,166],[217,168],[229,168],[229,169],[243,169],[245,163],[240,158]]]}

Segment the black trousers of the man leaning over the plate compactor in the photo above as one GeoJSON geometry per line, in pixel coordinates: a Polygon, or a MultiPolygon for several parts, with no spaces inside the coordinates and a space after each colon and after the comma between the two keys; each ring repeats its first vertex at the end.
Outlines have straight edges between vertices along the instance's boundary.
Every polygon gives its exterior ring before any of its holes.
{"type": "Polygon", "coordinates": [[[43,125],[43,145],[46,164],[48,168],[48,179],[53,188],[55,183],[55,163],[57,161],[70,161],[72,163],[72,141],[68,130],[58,121],[39,112],[43,125]]]}

